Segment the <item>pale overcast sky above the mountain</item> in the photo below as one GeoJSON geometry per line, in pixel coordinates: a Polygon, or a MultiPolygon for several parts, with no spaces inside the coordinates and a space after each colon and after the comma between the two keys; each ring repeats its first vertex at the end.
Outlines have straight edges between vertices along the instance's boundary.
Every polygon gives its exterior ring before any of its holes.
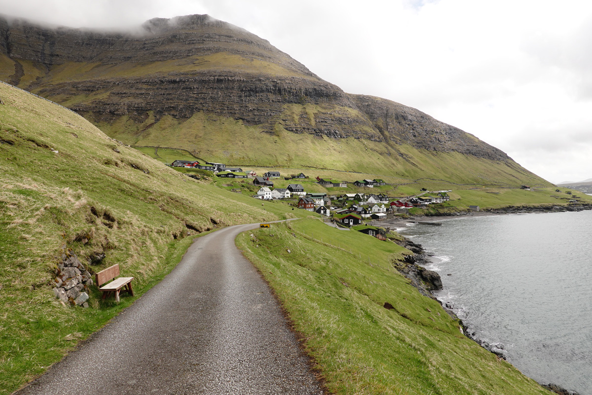
{"type": "Polygon", "coordinates": [[[353,94],[410,105],[551,182],[592,177],[590,0],[0,0],[71,27],[209,14],[353,94]]]}

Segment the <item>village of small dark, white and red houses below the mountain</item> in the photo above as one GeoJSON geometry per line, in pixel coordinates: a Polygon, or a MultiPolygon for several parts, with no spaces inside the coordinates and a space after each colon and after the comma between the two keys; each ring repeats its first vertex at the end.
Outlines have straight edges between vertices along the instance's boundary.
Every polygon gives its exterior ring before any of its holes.
{"type": "MultiPolygon", "coordinates": [[[[411,208],[425,209],[430,204],[441,204],[450,200],[450,191],[427,191],[422,188],[420,194],[408,197],[389,197],[385,193],[368,193],[368,188],[388,185],[382,179],[362,179],[354,182],[322,178],[316,176],[315,183],[326,188],[348,188],[349,184],[356,189],[363,189],[363,192],[328,194],[327,192],[307,192],[302,183],[303,180],[310,181],[310,176],[304,173],[295,175],[283,175],[278,171],[267,171],[258,175],[255,171],[244,172],[242,168],[227,167],[224,163],[175,160],[171,166],[202,169],[213,172],[218,178],[252,179],[252,184],[258,189],[252,194],[253,198],[269,201],[284,200],[294,208],[311,211],[327,217],[327,223],[335,227],[350,228],[366,233],[369,236],[377,237],[380,240],[387,240],[385,232],[377,227],[371,226],[371,221],[382,221],[395,216],[407,216],[411,208]],[[294,180],[285,188],[274,187],[274,181],[279,179],[294,180]]],[[[471,210],[479,211],[478,206],[471,206],[471,210]]]]}

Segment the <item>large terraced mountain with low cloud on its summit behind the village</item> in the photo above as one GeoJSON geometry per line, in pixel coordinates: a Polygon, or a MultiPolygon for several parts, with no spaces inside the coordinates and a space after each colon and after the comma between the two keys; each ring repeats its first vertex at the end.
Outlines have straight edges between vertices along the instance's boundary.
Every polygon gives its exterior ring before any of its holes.
{"type": "Polygon", "coordinates": [[[132,146],[240,166],[550,185],[472,134],[397,102],[347,94],[208,15],[118,33],[3,18],[0,79],[132,146]]]}

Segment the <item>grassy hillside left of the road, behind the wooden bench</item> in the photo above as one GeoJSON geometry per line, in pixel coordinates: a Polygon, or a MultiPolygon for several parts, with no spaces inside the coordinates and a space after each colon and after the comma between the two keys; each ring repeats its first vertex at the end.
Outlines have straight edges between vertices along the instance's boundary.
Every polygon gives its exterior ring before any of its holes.
{"type": "Polygon", "coordinates": [[[310,214],[196,181],[11,86],[0,98],[0,394],[141,296],[195,236],[310,214]],[[65,249],[92,272],[119,264],[136,297],[98,303],[95,290],[89,309],[62,306],[52,284],[65,249]]]}

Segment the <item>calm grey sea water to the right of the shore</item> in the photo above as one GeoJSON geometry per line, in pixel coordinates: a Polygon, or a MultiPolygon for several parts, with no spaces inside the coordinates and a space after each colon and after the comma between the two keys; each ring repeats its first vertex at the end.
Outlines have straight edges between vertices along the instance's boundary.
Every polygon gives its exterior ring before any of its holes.
{"type": "Polygon", "coordinates": [[[469,333],[542,384],[592,395],[592,211],[410,224],[439,257],[436,294],[469,333]]]}

